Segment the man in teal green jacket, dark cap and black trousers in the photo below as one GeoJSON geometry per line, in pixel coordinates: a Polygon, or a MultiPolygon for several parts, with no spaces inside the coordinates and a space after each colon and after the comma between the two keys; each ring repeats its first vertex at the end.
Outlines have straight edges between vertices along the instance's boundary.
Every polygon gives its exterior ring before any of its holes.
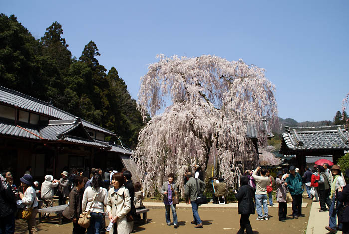
{"type": "Polygon", "coordinates": [[[295,166],[290,167],[290,176],[286,178],[287,188],[292,196],[292,216],[298,219],[302,214],[302,177],[296,172],[295,166]]]}

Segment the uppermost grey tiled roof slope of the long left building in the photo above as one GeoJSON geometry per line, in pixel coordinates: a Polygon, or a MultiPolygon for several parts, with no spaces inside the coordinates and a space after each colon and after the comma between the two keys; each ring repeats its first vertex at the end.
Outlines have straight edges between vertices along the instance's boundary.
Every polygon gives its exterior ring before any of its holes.
{"type": "MultiPolygon", "coordinates": [[[[59,120],[72,120],[76,118],[76,116],[68,112],[65,112],[61,109],[58,109],[48,102],[44,102],[42,100],[36,99],[34,97],[2,86],[0,86],[0,102],[6,103],[8,105],[17,106],[24,110],[50,116],[59,120]]],[[[108,135],[115,135],[112,131],[102,128],[96,124],[90,123],[86,120],[82,120],[82,123],[87,128],[91,128],[108,135]]]]}

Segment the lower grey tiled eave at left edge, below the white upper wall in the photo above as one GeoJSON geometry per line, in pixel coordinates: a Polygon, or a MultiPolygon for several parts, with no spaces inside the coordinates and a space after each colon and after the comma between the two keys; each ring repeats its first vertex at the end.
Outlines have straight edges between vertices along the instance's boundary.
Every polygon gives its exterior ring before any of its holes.
{"type": "Polygon", "coordinates": [[[40,135],[38,129],[35,129],[33,126],[26,124],[17,125],[14,124],[14,122],[6,121],[2,118],[0,121],[0,134],[9,135],[13,137],[30,138],[35,140],[40,139],[38,137],[40,135]]]}

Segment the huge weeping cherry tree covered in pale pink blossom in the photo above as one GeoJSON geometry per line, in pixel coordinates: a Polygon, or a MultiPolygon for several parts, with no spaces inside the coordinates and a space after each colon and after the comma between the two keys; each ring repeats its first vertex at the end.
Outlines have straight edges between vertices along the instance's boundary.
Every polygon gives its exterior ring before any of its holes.
{"type": "Polygon", "coordinates": [[[239,161],[256,160],[249,153],[245,122],[277,121],[275,86],[263,68],[241,59],[157,58],[140,79],[137,107],[144,120],[149,115],[152,119],[141,130],[132,155],[145,190],[154,192],[170,172],[178,175],[183,188],[185,170],[195,164],[205,170],[214,156],[220,175],[234,186],[239,161]]]}

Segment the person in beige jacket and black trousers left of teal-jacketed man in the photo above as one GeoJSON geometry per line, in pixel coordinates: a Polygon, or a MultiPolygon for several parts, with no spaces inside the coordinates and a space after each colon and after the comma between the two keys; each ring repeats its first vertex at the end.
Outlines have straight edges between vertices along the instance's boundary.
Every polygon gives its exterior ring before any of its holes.
{"type": "Polygon", "coordinates": [[[285,179],[288,177],[288,174],[283,176],[282,171],[276,173],[276,201],[279,203],[279,220],[285,222],[287,214],[287,202],[286,202],[286,193],[287,193],[287,183],[285,179]]]}

